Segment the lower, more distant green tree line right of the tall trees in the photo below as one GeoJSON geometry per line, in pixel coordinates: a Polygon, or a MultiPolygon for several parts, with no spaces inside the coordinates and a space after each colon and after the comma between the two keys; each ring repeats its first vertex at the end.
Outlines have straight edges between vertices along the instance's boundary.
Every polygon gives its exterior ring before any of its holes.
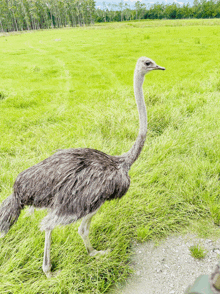
{"type": "Polygon", "coordinates": [[[219,18],[220,0],[194,0],[189,3],[164,4],[155,3],[151,6],[137,1],[131,9],[125,2],[118,5],[103,3],[102,9],[96,9],[95,21],[124,21],[136,19],[182,19],[182,18],[219,18]]]}

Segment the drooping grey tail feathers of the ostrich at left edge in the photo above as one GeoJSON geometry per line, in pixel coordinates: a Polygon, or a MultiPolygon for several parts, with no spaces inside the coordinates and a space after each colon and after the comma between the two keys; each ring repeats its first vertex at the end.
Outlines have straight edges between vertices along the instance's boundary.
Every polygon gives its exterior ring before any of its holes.
{"type": "Polygon", "coordinates": [[[20,201],[11,194],[0,206],[0,237],[4,237],[17,221],[22,207],[20,201]]]}

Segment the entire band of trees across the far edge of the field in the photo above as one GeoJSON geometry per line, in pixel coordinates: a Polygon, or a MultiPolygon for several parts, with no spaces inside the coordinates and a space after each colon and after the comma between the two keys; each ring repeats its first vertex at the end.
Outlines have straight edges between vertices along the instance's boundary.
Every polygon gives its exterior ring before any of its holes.
{"type": "Polygon", "coordinates": [[[220,0],[194,0],[193,5],[137,1],[133,8],[126,2],[96,8],[94,0],[0,0],[0,31],[21,31],[82,26],[94,22],[135,19],[218,18],[220,0]]]}

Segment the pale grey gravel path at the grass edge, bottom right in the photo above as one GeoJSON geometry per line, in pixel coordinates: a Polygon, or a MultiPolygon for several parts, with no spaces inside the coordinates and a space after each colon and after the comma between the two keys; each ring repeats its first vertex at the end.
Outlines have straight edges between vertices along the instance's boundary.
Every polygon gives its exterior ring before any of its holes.
{"type": "Polygon", "coordinates": [[[194,235],[172,236],[159,246],[154,242],[137,245],[132,268],[134,275],[117,294],[183,294],[201,274],[210,274],[220,260],[220,239],[212,241],[194,235]],[[189,247],[201,245],[206,251],[202,260],[190,255],[189,247]]]}

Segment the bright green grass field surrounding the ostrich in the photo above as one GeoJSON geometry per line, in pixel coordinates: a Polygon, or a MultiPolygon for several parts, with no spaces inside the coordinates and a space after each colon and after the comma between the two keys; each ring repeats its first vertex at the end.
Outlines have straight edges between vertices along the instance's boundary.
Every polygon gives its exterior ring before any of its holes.
{"type": "Polygon", "coordinates": [[[139,122],[133,71],[148,56],[165,72],[146,76],[149,132],[130,171],[131,187],[105,203],[89,257],[79,222],[52,234],[52,270],[42,272],[45,211],[0,240],[0,293],[104,293],[130,273],[134,241],[192,227],[219,236],[220,20],[141,21],[0,37],[0,200],[19,172],[56,149],[128,151],[139,122]]]}

